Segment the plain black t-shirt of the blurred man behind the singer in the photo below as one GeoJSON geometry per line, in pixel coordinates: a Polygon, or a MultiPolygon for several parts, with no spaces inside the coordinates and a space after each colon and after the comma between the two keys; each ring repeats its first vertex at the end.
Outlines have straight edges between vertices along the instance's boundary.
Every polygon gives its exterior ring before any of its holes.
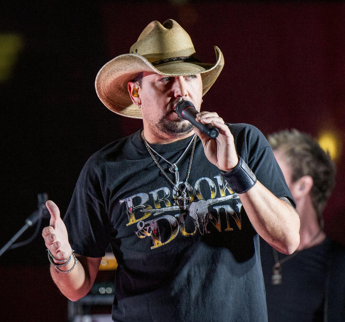
{"type": "MultiPolygon", "coordinates": [[[[273,250],[263,239],[260,239],[269,322],[324,321],[330,245],[331,240],[327,237],[319,245],[302,250],[287,259],[282,263],[282,284],[273,285],[271,283],[272,268],[275,264],[273,250]]],[[[284,260],[287,256],[290,255],[278,253],[279,260],[284,260]]]]}

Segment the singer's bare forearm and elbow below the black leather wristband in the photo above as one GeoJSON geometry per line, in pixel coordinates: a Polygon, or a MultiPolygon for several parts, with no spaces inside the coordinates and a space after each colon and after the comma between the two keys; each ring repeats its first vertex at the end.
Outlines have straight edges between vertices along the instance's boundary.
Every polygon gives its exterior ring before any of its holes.
{"type": "Polygon", "coordinates": [[[257,233],[279,252],[293,253],[299,245],[299,217],[295,209],[274,196],[259,181],[239,194],[257,233]]]}

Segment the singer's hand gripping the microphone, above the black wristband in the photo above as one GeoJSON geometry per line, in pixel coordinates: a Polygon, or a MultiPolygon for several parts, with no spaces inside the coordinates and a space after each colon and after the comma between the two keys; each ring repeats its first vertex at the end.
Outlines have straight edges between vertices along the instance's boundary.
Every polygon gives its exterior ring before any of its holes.
{"type": "Polygon", "coordinates": [[[223,118],[216,112],[200,112],[196,115],[196,120],[203,124],[211,123],[219,131],[218,137],[211,139],[206,134],[194,127],[194,132],[199,136],[204,146],[205,155],[209,162],[217,166],[220,170],[228,172],[238,163],[238,157],[234,144],[234,137],[229,127],[224,124],[223,118]]]}

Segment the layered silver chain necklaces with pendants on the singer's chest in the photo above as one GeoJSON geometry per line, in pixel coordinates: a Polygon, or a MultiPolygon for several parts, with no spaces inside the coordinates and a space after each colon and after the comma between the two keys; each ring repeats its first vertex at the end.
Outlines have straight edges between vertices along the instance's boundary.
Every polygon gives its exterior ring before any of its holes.
{"type": "Polygon", "coordinates": [[[175,163],[171,163],[169,162],[166,158],[162,157],[158,152],[156,152],[146,141],[145,137],[144,137],[144,131],[141,132],[141,138],[145,143],[145,146],[148,150],[148,152],[150,153],[152,159],[154,160],[154,162],[157,164],[159,170],[161,170],[162,174],[164,174],[164,176],[168,179],[168,181],[175,186],[175,184],[177,185],[177,183],[179,182],[179,173],[178,173],[178,168],[177,168],[177,163],[179,162],[179,160],[183,157],[183,155],[186,153],[186,151],[188,150],[188,148],[190,147],[191,143],[193,142],[193,148],[192,148],[192,152],[190,155],[190,159],[189,159],[189,165],[188,165],[188,170],[187,170],[187,176],[186,176],[186,180],[185,183],[183,185],[181,185],[181,189],[177,188],[177,200],[182,201],[183,202],[183,209],[186,209],[186,203],[187,201],[190,201],[190,197],[187,197],[187,181],[189,178],[189,173],[190,173],[190,168],[192,165],[192,160],[193,160],[193,155],[194,155],[194,150],[195,150],[195,144],[196,144],[196,134],[194,134],[193,138],[190,140],[188,146],[185,148],[184,152],[182,153],[182,155],[177,159],[177,161],[175,163]],[[176,183],[174,184],[174,182],[168,177],[168,175],[165,173],[165,171],[162,169],[162,167],[160,166],[160,164],[158,163],[157,159],[155,158],[155,156],[152,154],[151,150],[153,152],[155,152],[159,157],[161,157],[165,162],[169,163],[171,165],[171,167],[169,168],[171,173],[175,173],[175,181],[176,183]]]}

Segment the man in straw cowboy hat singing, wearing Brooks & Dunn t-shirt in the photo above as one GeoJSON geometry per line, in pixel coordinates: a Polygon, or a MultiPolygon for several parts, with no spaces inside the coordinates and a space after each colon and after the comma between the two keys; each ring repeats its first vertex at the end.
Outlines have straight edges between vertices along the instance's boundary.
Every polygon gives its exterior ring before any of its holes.
{"type": "Polygon", "coordinates": [[[151,22],[96,77],[100,100],[143,129],[90,157],[64,221],[47,202],[51,274],[70,300],[89,292],[110,243],[114,321],[266,321],[258,235],[286,254],[299,244],[293,198],[258,129],[200,112],[219,131],[211,139],[175,112],[182,100],[200,111],[224,65],[215,52],[201,63],[176,21],[151,22]]]}

